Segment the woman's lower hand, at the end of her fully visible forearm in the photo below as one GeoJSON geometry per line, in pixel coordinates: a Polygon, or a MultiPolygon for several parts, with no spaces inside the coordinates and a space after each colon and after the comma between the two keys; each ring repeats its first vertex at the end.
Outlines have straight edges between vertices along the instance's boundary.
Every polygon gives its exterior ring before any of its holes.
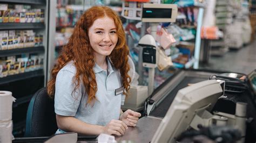
{"type": "Polygon", "coordinates": [[[127,129],[127,125],[121,120],[111,120],[109,124],[103,127],[103,133],[122,135],[127,129]]]}

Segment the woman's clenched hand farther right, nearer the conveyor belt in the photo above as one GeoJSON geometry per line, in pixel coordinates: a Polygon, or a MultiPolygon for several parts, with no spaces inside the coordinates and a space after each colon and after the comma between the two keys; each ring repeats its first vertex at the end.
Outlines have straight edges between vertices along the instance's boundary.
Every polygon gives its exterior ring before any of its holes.
{"type": "Polygon", "coordinates": [[[124,121],[127,126],[136,126],[139,117],[142,116],[139,112],[132,111],[130,109],[126,110],[122,115],[120,115],[120,120],[124,121]]]}

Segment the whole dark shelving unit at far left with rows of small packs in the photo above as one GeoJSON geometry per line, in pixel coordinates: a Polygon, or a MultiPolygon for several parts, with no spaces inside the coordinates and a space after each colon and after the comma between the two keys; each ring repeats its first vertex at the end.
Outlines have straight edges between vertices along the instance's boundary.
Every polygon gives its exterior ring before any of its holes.
{"type": "Polygon", "coordinates": [[[0,89],[17,99],[12,107],[15,137],[23,137],[31,95],[46,80],[47,3],[3,0],[0,4],[0,89]]]}

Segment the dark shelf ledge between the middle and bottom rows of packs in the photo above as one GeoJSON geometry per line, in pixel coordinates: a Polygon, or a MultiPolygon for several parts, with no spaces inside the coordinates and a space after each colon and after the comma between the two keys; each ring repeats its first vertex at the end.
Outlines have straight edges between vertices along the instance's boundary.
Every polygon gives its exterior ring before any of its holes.
{"type": "Polygon", "coordinates": [[[19,55],[24,53],[44,53],[44,46],[1,50],[0,57],[19,55]]]}

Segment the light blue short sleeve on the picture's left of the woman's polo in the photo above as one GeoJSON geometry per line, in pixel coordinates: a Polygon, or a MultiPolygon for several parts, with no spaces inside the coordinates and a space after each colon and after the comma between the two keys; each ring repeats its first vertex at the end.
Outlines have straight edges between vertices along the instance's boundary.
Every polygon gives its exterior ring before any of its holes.
{"type": "Polygon", "coordinates": [[[60,70],[55,83],[55,113],[61,116],[75,116],[82,98],[82,86],[75,89],[73,77],[69,70],[60,70]]]}

